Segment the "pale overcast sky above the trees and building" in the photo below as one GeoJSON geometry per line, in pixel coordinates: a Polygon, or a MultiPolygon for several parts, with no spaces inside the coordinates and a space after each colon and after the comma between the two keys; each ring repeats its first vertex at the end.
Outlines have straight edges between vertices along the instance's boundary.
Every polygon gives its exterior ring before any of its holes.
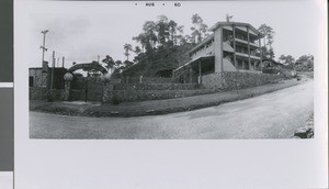
{"type": "Polygon", "coordinates": [[[45,54],[45,60],[49,63],[53,51],[56,59],[60,57],[59,65],[65,56],[65,67],[70,67],[72,62],[91,63],[98,60],[98,56],[102,60],[105,55],[125,60],[124,44],[137,45],[132,37],[141,32],[146,21],[156,21],[160,14],[184,25],[184,34],[191,33],[194,13],[201,15],[208,27],[225,21],[227,13],[232,15],[234,22],[250,23],[257,29],[265,23],[275,32],[275,59],[282,54],[298,58],[304,54],[316,54],[318,49],[320,14],[316,1],[181,1],[180,7],[170,1],[163,1],[164,5],[156,1],[155,7],[136,2],[35,2],[26,8],[29,27],[24,32],[29,35],[29,66],[41,66],[43,30],[49,30],[45,54]]]}

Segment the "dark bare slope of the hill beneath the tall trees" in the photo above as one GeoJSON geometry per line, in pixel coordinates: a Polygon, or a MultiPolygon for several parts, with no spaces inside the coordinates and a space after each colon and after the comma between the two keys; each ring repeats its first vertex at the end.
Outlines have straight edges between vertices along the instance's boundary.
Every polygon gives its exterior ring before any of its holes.
{"type": "Polygon", "coordinates": [[[140,53],[135,59],[138,63],[122,73],[122,76],[129,77],[171,77],[173,69],[188,63],[188,52],[192,44],[184,44],[171,48],[157,48],[146,54],[140,53]]]}

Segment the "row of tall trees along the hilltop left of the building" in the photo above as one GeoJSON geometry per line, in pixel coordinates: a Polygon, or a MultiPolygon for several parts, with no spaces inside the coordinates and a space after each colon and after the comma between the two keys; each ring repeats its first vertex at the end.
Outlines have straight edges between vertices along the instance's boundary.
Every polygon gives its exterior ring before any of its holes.
{"type": "Polygon", "coordinates": [[[114,60],[106,55],[102,63],[105,64],[107,70],[125,69],[139,63],[156,49],[171,49],[185,44],[195,45],[209,35],[208,25],[197,13],[192,15],[191,22],[193,26],[191,26],[189,35],[184,34],[183,25],[166,15],[159,15],[156,21],[146,21],[141,26],[141,33],[132,37],[138,45],[124,44],[126,60],[114,60]],[[131,60],[132,53],[136,54],[133,60],[131,60]]]}

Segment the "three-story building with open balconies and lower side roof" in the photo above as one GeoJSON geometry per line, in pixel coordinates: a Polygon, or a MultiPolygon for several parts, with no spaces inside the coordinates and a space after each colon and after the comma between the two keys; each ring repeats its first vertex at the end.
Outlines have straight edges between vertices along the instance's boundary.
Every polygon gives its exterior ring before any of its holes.
{"type": "Polygon", "coordinates": [[[203,75],[224,71],[261,71],[260,38],[249,23],[218,22],[208,37],[194,46],[191,62],[173,71],[184,82],[201,82],[203,75]]]}

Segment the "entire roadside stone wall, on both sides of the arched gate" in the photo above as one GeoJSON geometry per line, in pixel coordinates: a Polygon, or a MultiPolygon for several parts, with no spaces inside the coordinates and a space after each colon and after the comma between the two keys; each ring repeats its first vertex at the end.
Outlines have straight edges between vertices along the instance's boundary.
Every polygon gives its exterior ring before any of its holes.
{"type": "MultiPolygon", "coordinates": [[[[282,75],[260,73],[216,73],[202,77],[202,89],[196,84],[113,84],[107,82],[97,90],[100,96],[88,100],[97,100],[106,103],[123,101],[159,100],[180,97],[190,97],[218,91],[228,91],[241,88],[261,86],[277,82],[283,79],[282,75]]],[[[94,89],[95,90],[95,89],[94,89]]],[[[84,100],[83,90],[70,90],[69,100],[84,100]]],[[[30,88],[31,100],[68,100],[68,90],[46,88],[30,88]]]]}

